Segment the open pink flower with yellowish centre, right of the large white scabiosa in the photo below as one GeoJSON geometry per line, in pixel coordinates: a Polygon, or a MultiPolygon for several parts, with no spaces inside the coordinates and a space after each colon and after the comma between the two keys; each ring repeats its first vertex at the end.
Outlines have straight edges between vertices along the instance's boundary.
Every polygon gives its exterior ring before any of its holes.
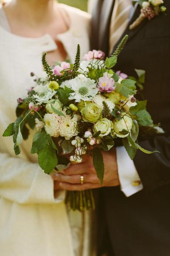
{"type": "Polygon", "coordinates": [[[98,89],[101,92],[112,92],[115,90],[115,80],[113,78],[108,78],[108,76],[102,76],[99,78],[98,89]]]}

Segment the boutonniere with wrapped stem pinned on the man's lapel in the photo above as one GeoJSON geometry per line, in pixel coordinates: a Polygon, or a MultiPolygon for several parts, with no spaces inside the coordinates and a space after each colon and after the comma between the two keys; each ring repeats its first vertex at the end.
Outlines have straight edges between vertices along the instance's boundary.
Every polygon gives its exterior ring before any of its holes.
{"type": "Polygon", "coordinates": [[[139,1],[141,6],[139,17],[130,25],[129,29],[133,30],[146,18],[152,20],[154,16],[159,15],[161,12],[166,12],[166,7],[163,6],[163,0],[148,0],[139,1]]]}

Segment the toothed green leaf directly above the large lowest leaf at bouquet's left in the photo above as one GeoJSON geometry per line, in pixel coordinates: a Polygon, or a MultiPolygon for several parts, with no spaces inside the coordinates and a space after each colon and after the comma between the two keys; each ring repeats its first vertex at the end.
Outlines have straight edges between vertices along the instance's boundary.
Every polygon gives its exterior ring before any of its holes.
{"type": "Polygon", "coordinates": [[[48,134],[45,132],[36,132],[33,137],[31,154],[38,154],[46,145],[48,145],[48,134]]]}

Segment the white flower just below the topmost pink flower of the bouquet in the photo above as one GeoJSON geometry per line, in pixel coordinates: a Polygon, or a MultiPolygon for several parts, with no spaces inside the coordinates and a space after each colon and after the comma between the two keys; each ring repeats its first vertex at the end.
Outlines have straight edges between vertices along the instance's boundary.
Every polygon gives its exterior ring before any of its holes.
{"type": "Polygon", "coordinates": [[[83,60],[80,63],[80,67],[78,69],[79,73],[84,74],[84,72],[89,73],[89,68],[94,68],[94,69],[101,69],[101,66],[104,67],[104,60],[98,60],[98,59],[92,59],[92,60],[83,60]]]}

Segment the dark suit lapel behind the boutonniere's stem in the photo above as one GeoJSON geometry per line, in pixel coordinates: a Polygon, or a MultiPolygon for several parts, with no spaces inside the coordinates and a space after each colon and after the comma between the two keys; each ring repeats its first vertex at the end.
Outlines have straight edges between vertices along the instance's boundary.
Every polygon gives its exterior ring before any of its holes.
{"type": "Polygon", "coordinates": [[[113,52],[116,49],[116,47],[118,46],[118,44],[120,43],[120,41],[123,39],[123,37],[125,35],[128,35],[128,42],[136,35],[136,33],[146,24],[147,19],[143,20],[143,22],[141,24],[139,24],[138,27],[136,27],[136,29],[130,30],[129,26],[130,24],[132,24],[137,17],[139,17],[140,15],[140,6],[139,4],[136,4],[135,9],[134,9],[134,13],[132,15],[132,18],[129,20],[128,26],[125,29],[125,32],[123,32],[122,36],[120,37],[119,41],[116,43],[116,45],[113,48],[113,52]]]}

